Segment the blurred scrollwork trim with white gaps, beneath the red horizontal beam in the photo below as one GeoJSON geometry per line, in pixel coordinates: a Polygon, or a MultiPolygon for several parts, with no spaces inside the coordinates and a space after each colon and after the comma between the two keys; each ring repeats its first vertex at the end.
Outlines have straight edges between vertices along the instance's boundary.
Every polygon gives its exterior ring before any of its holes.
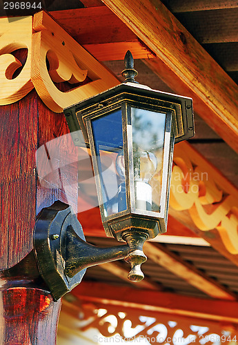
{"type": "Polygon", "coordinates": [[[152,313],[137,309],[119,308],[106,304],[83,305],[81,331],[97,328],[103,337],[95,336],[95,342],[144,342],[150,344],[231,344],[237,341],[234,325],[188,317],[152,313]]]}

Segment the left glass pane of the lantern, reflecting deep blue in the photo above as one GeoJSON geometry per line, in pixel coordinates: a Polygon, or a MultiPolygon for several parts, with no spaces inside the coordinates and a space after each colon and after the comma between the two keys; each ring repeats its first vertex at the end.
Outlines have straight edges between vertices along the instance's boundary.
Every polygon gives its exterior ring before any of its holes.
{"type": "Polygon", "coordinates": [[[104,216],[126,210],[121,109],[92,120],[104,216]]]}

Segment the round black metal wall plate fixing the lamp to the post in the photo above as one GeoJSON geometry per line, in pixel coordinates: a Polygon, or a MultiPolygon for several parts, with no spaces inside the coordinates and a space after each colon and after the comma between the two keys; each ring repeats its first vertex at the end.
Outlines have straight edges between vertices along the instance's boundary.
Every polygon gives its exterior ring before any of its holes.
{"type": "Polygon", "coordinates": [[[34,254],[41,276],[55,300],[79,284],[86,272],[83,269],[72,278],[65,273],[66,261],[61,248],[64,248],[68,226],[75,230],[79,238],[85,239],[81,224],[71,213],[70,206],[56,201],[41,210],[34,227],[34,254]]]}

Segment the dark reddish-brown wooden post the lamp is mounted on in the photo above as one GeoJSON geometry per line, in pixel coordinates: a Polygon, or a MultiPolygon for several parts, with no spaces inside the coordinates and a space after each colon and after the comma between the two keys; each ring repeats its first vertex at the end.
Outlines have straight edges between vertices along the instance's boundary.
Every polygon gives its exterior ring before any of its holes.
{"type": "Polygon", "coordinates": [[[1,344],[56,344],[61,301],[53,301],[39,277],[33,231],[41,208],[57,199],[77,205],[77,188],[68,187],[77,186],[77,164],[65,163],[66,155],[77,162],[68,133],[63,114],[46,108],[34,90],[17,103],[0,107],[1,344]],[[47,164],[42,157],[51,163],[44,184],[37,179],[37,168],[42,172],[40,164],[47,164]]]}

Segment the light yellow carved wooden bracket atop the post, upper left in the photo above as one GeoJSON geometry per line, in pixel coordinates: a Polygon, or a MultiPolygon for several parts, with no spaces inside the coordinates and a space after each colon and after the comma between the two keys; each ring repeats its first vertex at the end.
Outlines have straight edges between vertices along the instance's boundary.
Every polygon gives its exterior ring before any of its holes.
{"type": "Polygon", "coordinates": [[[54,112],[119,83],[46,12],[0,19],[0,71],[0,105],[19,101],[35,88],[54,112]],[[23,64],[14,57],[22,49],[27,49],[23,64]]]}

